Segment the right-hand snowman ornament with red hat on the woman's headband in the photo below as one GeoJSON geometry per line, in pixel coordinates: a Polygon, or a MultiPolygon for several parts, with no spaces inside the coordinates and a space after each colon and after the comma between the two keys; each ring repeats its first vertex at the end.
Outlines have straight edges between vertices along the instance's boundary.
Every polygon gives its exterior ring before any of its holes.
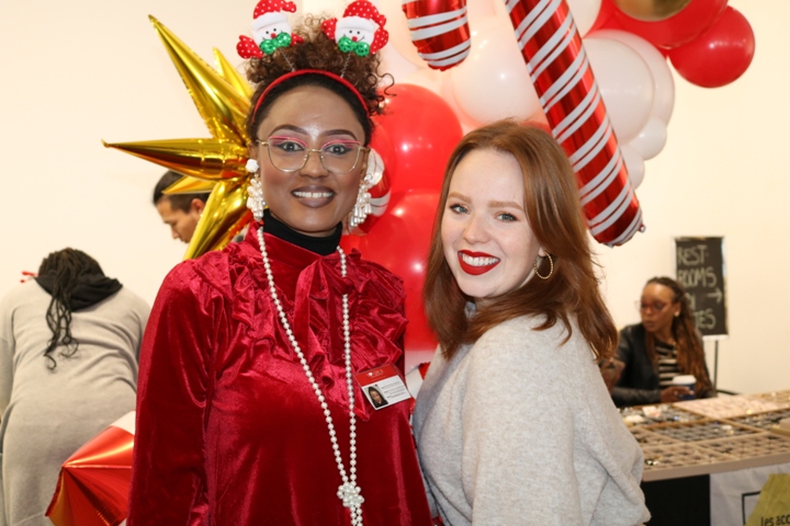
{"type": "Polygon", "coordinates": [[[356,53],[364,57],[376,53],[390,39],[390,33],[384,28],[386,16],[368,0],[351,2],[340,20],[324,21],[321,30],[329,38],[338,43],[343,53],[356,53]]]}

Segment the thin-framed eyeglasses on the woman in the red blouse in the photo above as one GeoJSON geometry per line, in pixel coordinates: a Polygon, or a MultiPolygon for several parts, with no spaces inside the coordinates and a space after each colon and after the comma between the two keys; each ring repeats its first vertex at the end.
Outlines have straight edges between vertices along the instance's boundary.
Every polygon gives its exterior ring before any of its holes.
{"type": "Polygon", "coordinates": [[[307,148],[305,142],[293,137],[272,136],[257,142],[267,147],[269,160],[281,172],[302,170],[311,152],[315,151],[324,170],[342,175],[357,168],[361,151],[370,150],[356,140],[330,140],[318,149],[307,148]]]}

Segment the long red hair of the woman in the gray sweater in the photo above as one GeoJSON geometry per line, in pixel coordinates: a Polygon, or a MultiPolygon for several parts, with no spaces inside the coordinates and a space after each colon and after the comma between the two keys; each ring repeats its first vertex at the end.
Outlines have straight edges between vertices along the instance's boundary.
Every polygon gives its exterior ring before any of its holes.
{"type": "MultiPolygon", "coordinates": [[[[546,260],[539,265],[541,275],[550,273],[546,260]]],[[[544,318],[538,330],[562,322],[567,334],[565,341],[571,338],[575,319],[597,358],[613,354],[618,333],[598,290],[576,176],[551,135],[534,126],[500,121],[471,132],[455,147],[439,197],[422,294],[428,323],[447,357],[490,328],[524,315],[544,318]],[[478,149],[509,153],[518,161],[523,174],[527,218],[537,240],[551,254],[554,271],[549,279],[530,278],[467,319],[465,305],[471,298],[461,291],[444,260],[441,221],[455,168],[470,151],[478,149]]]]}

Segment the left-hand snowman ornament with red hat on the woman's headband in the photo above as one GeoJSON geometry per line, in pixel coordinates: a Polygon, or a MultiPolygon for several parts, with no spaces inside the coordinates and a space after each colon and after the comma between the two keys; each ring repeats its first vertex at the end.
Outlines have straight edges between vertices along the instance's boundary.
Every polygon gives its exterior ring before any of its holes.
{"type": "Polygon", "coordinates": [[[239,36],[236,50],[241,58],[261,58],[281,47],[303,42],[291,34],[291,24],[285,13],[296,12],[296,4],[289,0],[260,0],[252,13],[252,38],[239,36]]]}

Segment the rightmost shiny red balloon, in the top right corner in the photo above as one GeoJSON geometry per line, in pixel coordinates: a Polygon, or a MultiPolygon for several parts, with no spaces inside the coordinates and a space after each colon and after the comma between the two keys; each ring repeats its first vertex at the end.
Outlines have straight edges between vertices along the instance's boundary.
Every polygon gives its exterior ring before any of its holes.
{"type": "Polygon", "coordinates": [[[718,88],[746,71],[754,49],[752,26],[743,14],[727,5],[721,18],[699,38],[672,49],[669,60],[692,84],[718,88]]]}

